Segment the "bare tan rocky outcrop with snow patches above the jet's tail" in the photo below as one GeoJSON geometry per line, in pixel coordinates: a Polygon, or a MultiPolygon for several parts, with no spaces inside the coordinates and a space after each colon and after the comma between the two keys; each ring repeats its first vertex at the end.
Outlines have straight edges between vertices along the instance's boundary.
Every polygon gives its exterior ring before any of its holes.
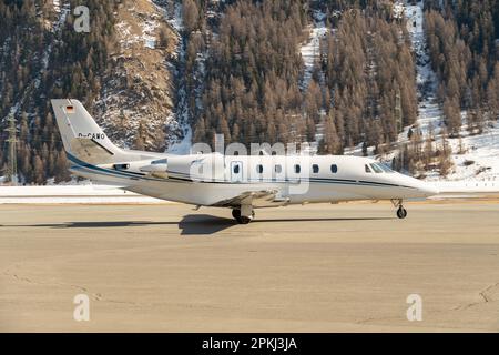
{"type": "Polygon", "coordinates": [[[95,102],[95,115],[120,145],[159,150],[167,139],[165,131],[179,134],[171,115],[174,80],[169,68],[176,58],[179,34],[150,0],[124,1],[116,16],[120,48],[111,54],[114,70],[95,102]],[[161,43],[161,36],[166,43],[161,43]]]}

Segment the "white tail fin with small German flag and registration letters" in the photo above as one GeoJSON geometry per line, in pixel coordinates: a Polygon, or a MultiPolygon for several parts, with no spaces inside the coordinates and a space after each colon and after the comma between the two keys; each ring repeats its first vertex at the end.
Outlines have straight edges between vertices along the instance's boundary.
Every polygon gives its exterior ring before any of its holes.
{"type": "Polygon", "coordinates": [[[73,99],[51,100],[67,153],[88,163],[111,163],[121,155],[83,104],[73,99]]]}

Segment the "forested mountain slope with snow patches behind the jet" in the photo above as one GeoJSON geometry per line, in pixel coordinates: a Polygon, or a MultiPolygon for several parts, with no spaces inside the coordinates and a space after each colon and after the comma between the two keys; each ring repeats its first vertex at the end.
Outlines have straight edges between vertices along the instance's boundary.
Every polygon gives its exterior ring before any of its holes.
{"type": "MultiPolygon", "coordinates": [[[[0,1],[0,164],[67,180],[50,98],[125,148],[313,142],[421,179],[499,173],[499,10],[427,1],[0,1]]],[[[1,173],[0,173],[1,174],[1,173]]]]}

